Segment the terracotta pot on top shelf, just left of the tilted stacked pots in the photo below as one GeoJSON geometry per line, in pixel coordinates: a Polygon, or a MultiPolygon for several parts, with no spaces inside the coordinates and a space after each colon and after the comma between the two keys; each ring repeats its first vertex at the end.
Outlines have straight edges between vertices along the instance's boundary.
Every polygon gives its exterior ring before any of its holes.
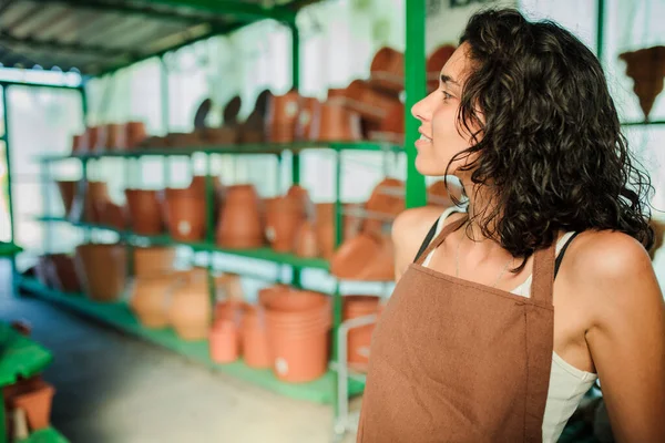
{"type": "Polygon", "coordinates": [[[356,142],[362,138],[360,115],[345,107],[344,100],[323,103],[311,123],[311,140],[318,142],[356,142]]]}

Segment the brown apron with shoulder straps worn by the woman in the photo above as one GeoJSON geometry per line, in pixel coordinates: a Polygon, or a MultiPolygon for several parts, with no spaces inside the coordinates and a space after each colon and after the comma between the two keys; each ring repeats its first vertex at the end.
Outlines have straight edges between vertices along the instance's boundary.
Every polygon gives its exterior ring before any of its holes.
{"type": "Polygon", "coordinates": [[[531,298],[421,266],[399,280],[371,343],[358,442],[541,442],[554,336],[555,245],[531,298]]]}

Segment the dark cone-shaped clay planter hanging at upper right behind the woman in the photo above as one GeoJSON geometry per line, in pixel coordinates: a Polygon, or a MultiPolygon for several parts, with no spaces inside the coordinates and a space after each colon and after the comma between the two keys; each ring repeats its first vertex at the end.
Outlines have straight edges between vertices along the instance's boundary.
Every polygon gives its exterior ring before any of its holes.
{"type": "Polygon", "coordinates": [[[626,75],[633,79],[633,92],[640,99],[644,119],[648,120],[654,102],[663,91],[665,47],[624,52],[618,58],[626,62],[626,75]]]}

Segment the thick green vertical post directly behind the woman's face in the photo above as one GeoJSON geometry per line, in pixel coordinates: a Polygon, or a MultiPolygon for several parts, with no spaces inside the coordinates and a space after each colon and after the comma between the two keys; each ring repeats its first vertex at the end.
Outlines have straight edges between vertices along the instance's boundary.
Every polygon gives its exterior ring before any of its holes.
{"type": "Polygon", "coordinates": [[[407,17],[405,86],[406,86],[406,152],[407,152],[407,208],[424,206],[424,177],[416,169],[416,147],[419,122],[411,116],[411,107],[426,95],[424,0],[405,1],[407,17]]]}

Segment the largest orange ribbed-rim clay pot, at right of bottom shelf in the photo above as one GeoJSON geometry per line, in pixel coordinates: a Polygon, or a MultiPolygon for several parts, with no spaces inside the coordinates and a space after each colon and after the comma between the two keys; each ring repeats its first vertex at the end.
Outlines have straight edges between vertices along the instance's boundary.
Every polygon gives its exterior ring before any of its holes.
{"type": "Polygon", "coordinates": [[[276,296],[266,310],[273,370],[286,382],[321,377],[328,364],[330,303],[325,295],[290,291],[276,296]]]}

